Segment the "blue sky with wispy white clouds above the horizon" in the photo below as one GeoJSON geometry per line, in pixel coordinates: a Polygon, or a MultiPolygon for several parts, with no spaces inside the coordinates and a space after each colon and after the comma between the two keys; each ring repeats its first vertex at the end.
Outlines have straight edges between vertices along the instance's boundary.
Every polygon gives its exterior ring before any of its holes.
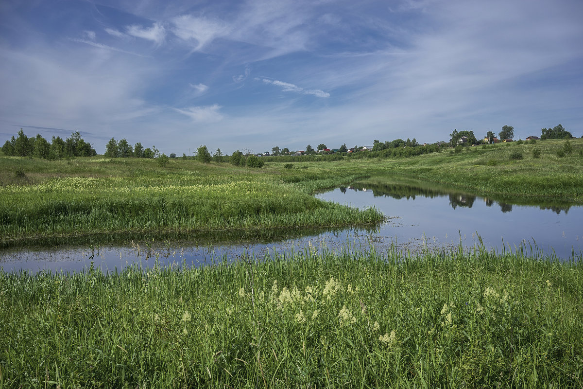
{"type": "Polygon", "coordinates": [[[581,0],[2,0],[0,141],[167,155],[583,135],[581,0]]]}

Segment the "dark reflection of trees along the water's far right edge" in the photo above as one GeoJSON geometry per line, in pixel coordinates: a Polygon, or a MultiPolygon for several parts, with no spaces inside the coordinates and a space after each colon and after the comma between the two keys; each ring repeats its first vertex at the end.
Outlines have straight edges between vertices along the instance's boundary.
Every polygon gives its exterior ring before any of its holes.
{"type": "MultiPolygon", "coordinates": [[[[423,196],[428,198],[434,197],[449,197],[449,205],[452,208],[457,208],[462,206],[465,208],[472,208],[477,196],[459,192],[456,190],[448,190],[447,188],[440,187],[422,187],[419,185],[411,184],[401,184],[401,183],[354,183],[349,187],[340,187],[340,191],[346,193],[346,190],[352,189],[353,191],[372,191],[374,197],[392,197],[395,199],[415,199],[416,196],[423,196]]],[[[564,211],[565,213],[571,208],[571,204],[568,202],[561,202],[560,200],[549,201],[549,199],[533,199],[533,198],[521,198],[521,197],[507,197],[504,195],[494,195],[492,197],[484,197],[484,202],[486,206],[492,206],[494,204],[500,205],[500,211],[512,212],[512,206],[514,205],[532,205],[540,206],[540,209],[550,209],[557,214],[564,211]]]]}

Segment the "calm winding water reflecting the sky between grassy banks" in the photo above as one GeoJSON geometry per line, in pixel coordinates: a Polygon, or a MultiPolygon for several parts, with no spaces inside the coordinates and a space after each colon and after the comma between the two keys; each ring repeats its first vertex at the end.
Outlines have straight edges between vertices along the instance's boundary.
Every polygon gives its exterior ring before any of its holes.
{"type": "Polygon", "coordinates": [[[518,246],[559,258],[581,257],[583,206],[529,198],[483,197],[402,178],[371,178],[317,195],[326,201],[364,208],[375,206],[388,219],[366,229],[270,230],[212,234],[139,234],[54,239],[20,243],[0,250],[5,271],[79,271],[91,262],[104,271],[138,262],[198,266],[236,260],[246,253],[262,257],[325,245],[340,250],[347,244],[377,250],[396,244],[403,250],[422,247],[465,247],[483,243],[497,251],[518,246]]]}

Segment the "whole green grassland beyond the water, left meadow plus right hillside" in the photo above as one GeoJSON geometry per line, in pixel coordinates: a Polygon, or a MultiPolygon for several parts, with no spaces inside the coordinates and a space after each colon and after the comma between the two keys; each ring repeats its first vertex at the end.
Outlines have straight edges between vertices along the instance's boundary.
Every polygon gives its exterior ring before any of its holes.
{"type": "Polygon", "coordinates": [[[360,152],[330,162],[293,162],[292,169],[285,168],[286,157],[262,169],[180,158],[161,167],[156,160],[103,156],[52,162],[0,157],[0,235],[13,240],[374,224],[383,217],[375,209],[359,211],[312,194],[382,174],[582,202],[583,139],[571,139],[570,153],[565,144],[514,142],[392,159],[360,152]]]}

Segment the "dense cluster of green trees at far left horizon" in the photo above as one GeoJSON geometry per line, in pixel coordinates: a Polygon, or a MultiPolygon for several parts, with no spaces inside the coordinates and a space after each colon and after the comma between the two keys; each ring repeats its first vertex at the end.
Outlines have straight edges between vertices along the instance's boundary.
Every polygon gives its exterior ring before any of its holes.
{"type": "Polygon", "coordinates": [[[69,138],[63,140],[60,136],[52,136],[51,142],[40,134],[24,135],[22,128],[16,136],[12,136],[2,146],[4,155],[19,157],[36,157],[48,160],[57,160],[73,157],[91,157],[97,155],[93,146],[81,138],[79,131],[72,132],[69,138]]]}

